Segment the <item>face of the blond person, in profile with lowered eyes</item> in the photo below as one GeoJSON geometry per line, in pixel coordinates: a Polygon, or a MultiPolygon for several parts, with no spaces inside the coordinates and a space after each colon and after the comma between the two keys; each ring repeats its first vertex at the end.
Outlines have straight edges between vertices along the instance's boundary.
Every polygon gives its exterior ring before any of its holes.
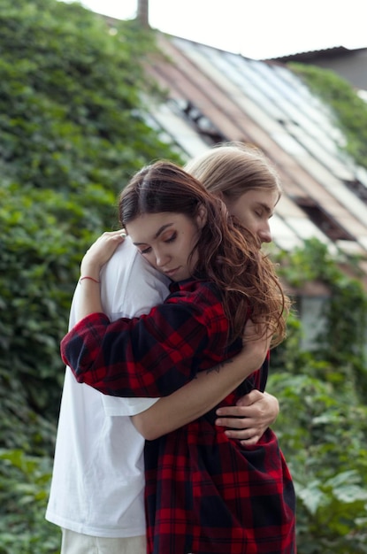
{"type": "Polygon", "coordinates": [[[236,200],[226,201],[228,211],[261,242],[271,242],[269,219],[279,201],[277,189],[253,189],[236,200]]]}

